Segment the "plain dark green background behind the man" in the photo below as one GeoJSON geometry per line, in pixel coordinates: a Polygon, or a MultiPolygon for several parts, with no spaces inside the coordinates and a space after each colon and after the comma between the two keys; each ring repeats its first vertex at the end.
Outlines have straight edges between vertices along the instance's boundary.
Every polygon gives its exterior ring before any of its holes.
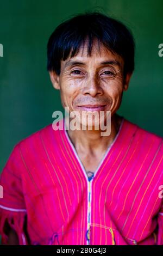
{"type": "Polygon", "coordinates": [[[163,136],[162,0],[0,1],[0,172],[18,141],[63,111],[46,71],[46,45],[56,26],[84,11],[102,11],[133,31],[135,72],[118,113],[163,136]]]}

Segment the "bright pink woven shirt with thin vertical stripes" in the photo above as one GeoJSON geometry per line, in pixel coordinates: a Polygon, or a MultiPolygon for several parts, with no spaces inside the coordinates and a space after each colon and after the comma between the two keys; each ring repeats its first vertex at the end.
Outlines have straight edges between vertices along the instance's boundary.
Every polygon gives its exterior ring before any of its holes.
{"type": "Polygon", "coordinates": [[[20,245],[163,245],[162,138],[123,118],[88,178],[65,130],[52,124],[12,150],[0,185],[5,220],[20,245]]]}

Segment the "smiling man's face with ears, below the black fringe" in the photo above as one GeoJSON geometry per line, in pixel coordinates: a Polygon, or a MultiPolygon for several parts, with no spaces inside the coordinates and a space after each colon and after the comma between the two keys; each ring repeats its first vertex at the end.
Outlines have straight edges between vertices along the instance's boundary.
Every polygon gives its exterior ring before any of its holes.
{"type": "MultiPolygon", "coordinates": [[[[92,47],[87,57],[87,46],[80,48],[77,56],[61,60],[60,75],[50,72],[55,89],[60,89],[63,107],[69,111],[89,111],[89,106],[103,105],[96,111],[111,111],[111,116],[120,107],[123,90],[128,88],[129,75],[123,78],[123,59],[101,45],[92,47]]],[[[94,106],[95,107],[95,106],[94,106]]]]}

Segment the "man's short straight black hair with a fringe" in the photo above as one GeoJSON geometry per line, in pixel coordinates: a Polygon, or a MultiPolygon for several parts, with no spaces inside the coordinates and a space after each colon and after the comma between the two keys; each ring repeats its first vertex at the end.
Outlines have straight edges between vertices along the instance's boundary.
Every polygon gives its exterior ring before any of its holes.
{"type": "Polygon", "coordinates": [[[134,71],[135,42],[122,22],[104,14],[79,14],[61,23],[47,44],[47,70],[60,75],[60,62],[76,56],[87,41],[87,56],[91,56],[94,40],[124,60],[124,77],[134,71]]]}

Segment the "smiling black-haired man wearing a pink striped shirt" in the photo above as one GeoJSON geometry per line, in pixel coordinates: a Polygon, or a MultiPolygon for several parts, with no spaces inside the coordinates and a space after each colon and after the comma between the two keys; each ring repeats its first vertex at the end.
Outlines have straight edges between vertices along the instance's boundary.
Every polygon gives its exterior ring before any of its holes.
{"type": "MultiPolygon", "coordinates": [[[[70,113],[111,113],[111,132],[67,130],[66,118],[19,142],[1,175],[3,243],[162,245],[162,138],[118,115],[134,70],[134,40],[100,13],[55,29],[47,68],[70,113]],[[14,241],[13,241],[14,240],[14,241]]],[[[71,117],[71,120],[73,118],[71,117]]]]}

